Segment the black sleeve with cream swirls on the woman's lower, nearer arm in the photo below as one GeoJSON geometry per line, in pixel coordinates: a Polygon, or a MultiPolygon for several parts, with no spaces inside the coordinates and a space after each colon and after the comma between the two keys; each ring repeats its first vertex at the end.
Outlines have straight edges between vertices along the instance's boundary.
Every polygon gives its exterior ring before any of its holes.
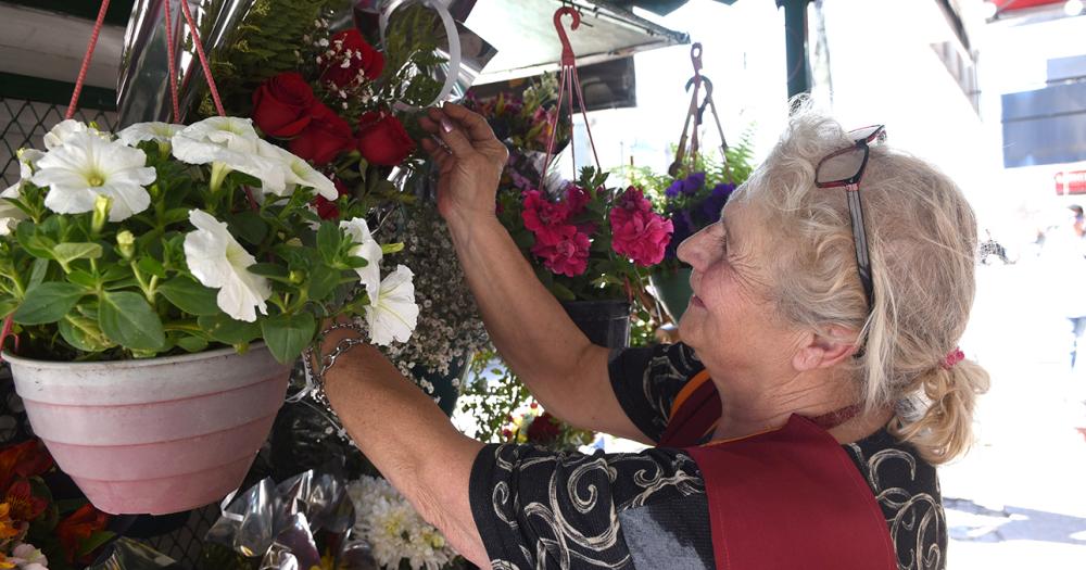
{"type": "MultiPolygon", "coordinates": [[[[490,459],[477,468],[490,464],[487,478],[496,481],[482,519],[501,528],[480,534],[492,556],[503,543],[494,568],[632,568],[619,514],[705,493],[696,464],[674,451],[585,455],[502,444],[482,453],[490,459]]],[[[476,496],[473,486],[478,509],[476,496]]]]}

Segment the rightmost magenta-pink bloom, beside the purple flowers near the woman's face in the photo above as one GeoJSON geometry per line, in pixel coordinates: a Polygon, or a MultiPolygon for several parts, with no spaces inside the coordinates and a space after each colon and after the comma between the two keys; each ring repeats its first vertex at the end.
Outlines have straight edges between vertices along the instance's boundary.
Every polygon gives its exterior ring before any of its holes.
{"type": "Polygon", "coordinates": [[[610,211],[611,248],[642,267],[664,259],[674,226],[652,211],[640,190],[630,188],[610,211]]]}

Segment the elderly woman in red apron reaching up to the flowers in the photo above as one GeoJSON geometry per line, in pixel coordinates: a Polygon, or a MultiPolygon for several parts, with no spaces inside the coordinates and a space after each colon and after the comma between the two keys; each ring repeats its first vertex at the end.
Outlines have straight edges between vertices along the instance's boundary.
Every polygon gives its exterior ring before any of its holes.
{"type": "Polygon", "coordinates": [[[483,445],[357,332],[325,378],[362,451],[481,567],[944,568],[934,465],[987,375],[958,340],[976,233],[924,162],[795,114],[720,223],[679,249],[682,342],[591,344],[494,215],[506,150],[446,104],[421,119],[439,208],[495,345],[547,410],[655,445],[483,445]],[[437,141],[437,142],[435,142],[437,141]],[[862,197],[862,204],[861,204],[862,197]]]}

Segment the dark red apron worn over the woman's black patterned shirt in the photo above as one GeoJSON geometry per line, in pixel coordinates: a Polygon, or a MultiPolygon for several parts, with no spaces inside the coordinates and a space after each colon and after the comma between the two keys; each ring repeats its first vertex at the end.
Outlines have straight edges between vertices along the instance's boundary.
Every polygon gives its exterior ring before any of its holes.
{"type": "Polygon", "coordinates": [[[719,417],[703,372],[680,392],[660,441],[685,447],[702,470],[718,570],[897,569],[882,509],[829,432],[793,415],[779,430],[696,446],[719,417]]]}

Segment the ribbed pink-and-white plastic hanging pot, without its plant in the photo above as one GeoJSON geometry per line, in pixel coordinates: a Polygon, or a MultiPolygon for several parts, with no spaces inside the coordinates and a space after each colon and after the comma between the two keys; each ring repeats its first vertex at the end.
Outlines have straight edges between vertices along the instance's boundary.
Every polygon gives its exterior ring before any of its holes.
{"type": "Polygon", "coordinates": [[[241,485],[290,372],[263,344],[147,360],[3,357],[56,465],[114,515],[189,510],[241,485]]]}

